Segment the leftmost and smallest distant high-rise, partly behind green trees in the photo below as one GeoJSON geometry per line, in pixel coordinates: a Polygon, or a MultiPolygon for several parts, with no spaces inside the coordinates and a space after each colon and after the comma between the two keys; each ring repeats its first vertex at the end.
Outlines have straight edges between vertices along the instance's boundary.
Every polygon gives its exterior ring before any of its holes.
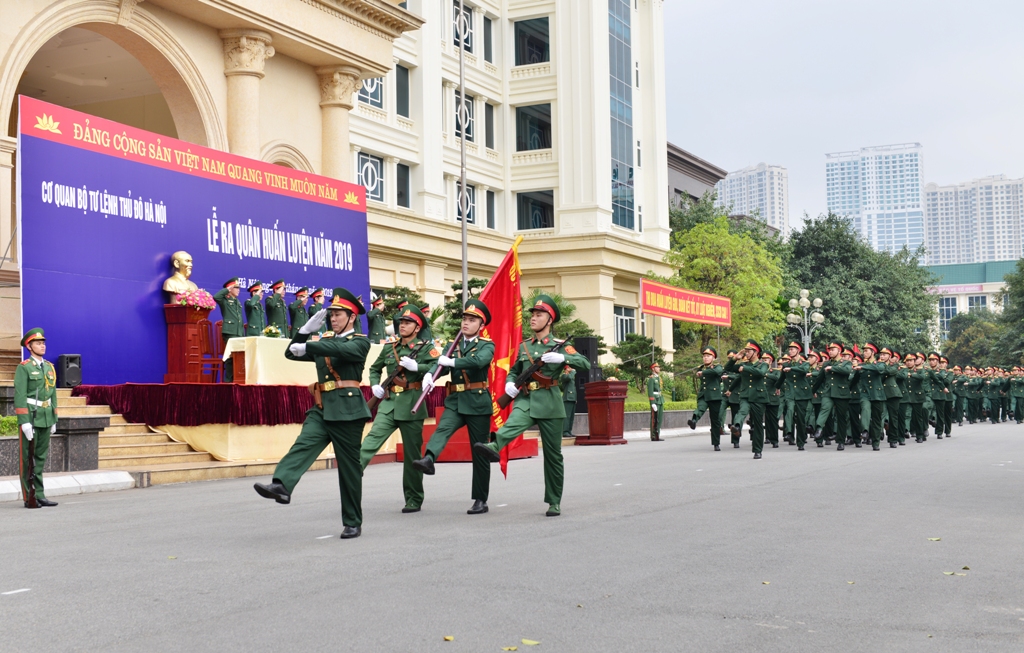
{"type": "Polygon", "coordinates": [[[790,237],[790,172],[760,163],[730,172],[716,184],[719,205],[730,213],[757,215],[790,237]]]}

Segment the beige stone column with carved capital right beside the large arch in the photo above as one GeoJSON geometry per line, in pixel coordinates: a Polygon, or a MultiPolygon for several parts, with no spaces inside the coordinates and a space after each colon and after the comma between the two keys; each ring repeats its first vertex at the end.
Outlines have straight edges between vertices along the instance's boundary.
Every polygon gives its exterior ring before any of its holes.
{"type": "Polygon", "coordinates": [[[273,56],[270,35],[259,30],[221,30],[227,78],[227,147],[231,154],[259,159],[259,81],[273,56]]]}

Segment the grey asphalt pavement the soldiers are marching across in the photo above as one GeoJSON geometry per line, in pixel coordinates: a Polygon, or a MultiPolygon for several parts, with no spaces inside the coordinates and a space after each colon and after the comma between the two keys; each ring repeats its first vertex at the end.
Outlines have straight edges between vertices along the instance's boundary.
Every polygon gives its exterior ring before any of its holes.
{"type": "Polygon", "coordinates": [[[416,515],[375,466],[349,541],[334,472],[287,507],[245,479],[5,504],[0,649],[1021,651],[1024,427],[955,433],[759,462],[745,437],[570,447],[555,519],[540,460],[480,517],[466,465],[416,515]]]}

